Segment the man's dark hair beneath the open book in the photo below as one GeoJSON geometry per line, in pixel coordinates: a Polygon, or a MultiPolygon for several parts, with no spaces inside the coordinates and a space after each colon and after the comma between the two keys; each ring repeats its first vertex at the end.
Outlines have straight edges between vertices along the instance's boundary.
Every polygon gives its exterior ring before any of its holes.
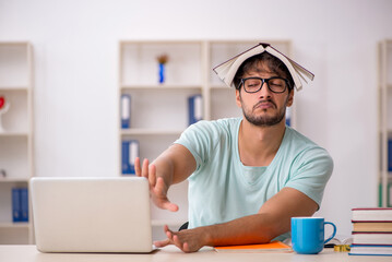
{"type": "Polygon", "coordinates": [[[289,83],[288,91],[293,90],[294,80],[286,64],[266,51],[250,57],[242,62],[233,80],[237,90],[240,87],[239,84],[243,74],[250,71],[256,71],[260,62],[264,63],[266,68],[270,69],[273,73],[276,73],[281,78],[287,79],[289,83]]]}

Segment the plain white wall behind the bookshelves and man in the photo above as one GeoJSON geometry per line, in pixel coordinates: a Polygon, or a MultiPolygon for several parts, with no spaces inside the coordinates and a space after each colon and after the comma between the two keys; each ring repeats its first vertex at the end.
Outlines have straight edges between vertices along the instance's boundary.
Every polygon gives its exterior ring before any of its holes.
{"type": "Polygon", "coordinates": [[[0,40],[35,51],[37,176],[117,171],[120,39],[292,39],[314,81],[298,130],[335,162],[319,215],[351,234],[351,209],[377,205],[377,43],[389,0],[0,0],[0,40]]]}

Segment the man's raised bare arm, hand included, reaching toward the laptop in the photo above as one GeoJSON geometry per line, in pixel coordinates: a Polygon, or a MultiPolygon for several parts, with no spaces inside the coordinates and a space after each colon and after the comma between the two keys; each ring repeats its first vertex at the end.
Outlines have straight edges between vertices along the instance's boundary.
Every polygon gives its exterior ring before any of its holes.
{"type": "Polygon", "coordinates": [[[139,157],[135,159],[135,172],[150,182],[150,191],[154,203],[165,210],[177,211],[178,206],[167,199],[167,191],[174,183],[186,180],[197,167],[193,155],[187,147],[174,144],[163,152],[151,165],[144,159],[143,166],[139,157]]]}

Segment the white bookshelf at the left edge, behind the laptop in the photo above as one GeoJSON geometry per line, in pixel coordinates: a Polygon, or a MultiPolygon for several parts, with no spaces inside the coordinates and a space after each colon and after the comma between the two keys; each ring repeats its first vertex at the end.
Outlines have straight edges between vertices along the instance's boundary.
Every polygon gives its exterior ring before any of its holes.
{"type": "MultiPolygon", "coordinates": [[[[0,243],[32,243],[33,223],[13,223],[12,189],[28,188],[33,176],[33,47],[0,43],[0,96],[10,102],[0,132],[0,243]]],[[[31,212],[29,212],[31,213],[31,212]]]]}

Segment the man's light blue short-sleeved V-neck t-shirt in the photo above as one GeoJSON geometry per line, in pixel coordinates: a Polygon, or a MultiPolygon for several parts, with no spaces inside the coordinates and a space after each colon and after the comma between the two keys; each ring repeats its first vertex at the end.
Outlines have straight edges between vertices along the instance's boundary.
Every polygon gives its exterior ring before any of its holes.
{"type": "Polygon", "coordinates": [[[188,178],[189,228],[257,214],[265,201],[285,187],[321,204],[333,169],[328,152],[286,127],[269,166],[245,166],[238,152],[241,120],[199,121],[175,142],[186,146],[197,162],[195,171],[188,178]]]}

